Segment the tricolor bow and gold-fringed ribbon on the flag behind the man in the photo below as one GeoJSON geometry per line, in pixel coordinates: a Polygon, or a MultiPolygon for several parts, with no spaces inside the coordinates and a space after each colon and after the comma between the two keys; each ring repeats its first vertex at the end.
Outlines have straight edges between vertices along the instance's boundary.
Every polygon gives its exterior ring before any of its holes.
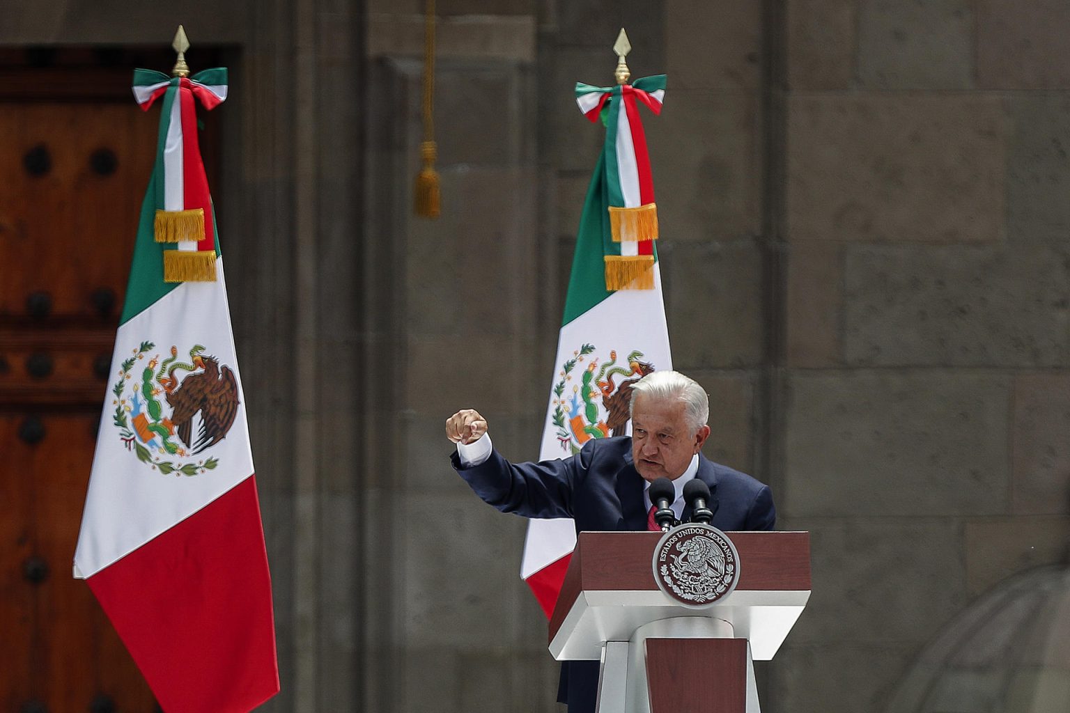
{"type": "Polygon", "coordinates": [[[609,230],[602,231],[607,290],[654,288],[658,212],[639,104],[661,113],[664,93],[664,75],[616,87],[576,83],[580,110],[592,122],[601,118],[606,126],[594,183],[602,179],[601,199],[609,211],[609,230]]]}

